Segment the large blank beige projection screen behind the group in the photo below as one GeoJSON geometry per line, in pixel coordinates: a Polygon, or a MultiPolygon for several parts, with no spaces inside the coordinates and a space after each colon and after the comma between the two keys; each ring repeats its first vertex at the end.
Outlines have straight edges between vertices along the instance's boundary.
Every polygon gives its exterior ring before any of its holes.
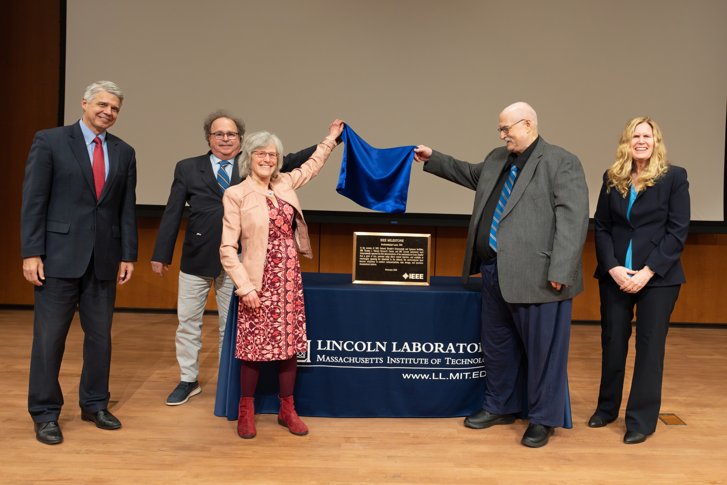
{"type": "MultiPolygon", "coordinates": [[[[217,108],[286,153],[340,118],[377,148],[479,162],[502,145],[502,108],[526,101],[582,161],[591,215],[624,124],[646,114],[688,171],[692,220],[724,217],[725,1],[69,0],[67,25],[65,123],[92,81],[119,84],[110,131],[137,151],[138,204],[166,204],[217,108]]],[[[367,210],[335,191],[341,156],[298,191],[304,209],[367,210]]],[[[407,212],[470,214],[473,196],[414,162],[407,212]]]]}

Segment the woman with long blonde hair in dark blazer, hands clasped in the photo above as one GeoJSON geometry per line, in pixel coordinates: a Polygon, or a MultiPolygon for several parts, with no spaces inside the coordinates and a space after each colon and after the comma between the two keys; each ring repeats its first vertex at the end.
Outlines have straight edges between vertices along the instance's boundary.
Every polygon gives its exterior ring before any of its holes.
{"type": "Polygon", "coordinates": [[[686,282],[679,257],[690,219],[686,170],[667,161],[654,120],[639,116],[626,124],[616,161],[603,175],[594,218],[603,363],[598,407],[588,425],[601,428],[619,415],[636,306],[624,443],[643,443],[656,430],[662,403],[664,344],[686,282]]]}

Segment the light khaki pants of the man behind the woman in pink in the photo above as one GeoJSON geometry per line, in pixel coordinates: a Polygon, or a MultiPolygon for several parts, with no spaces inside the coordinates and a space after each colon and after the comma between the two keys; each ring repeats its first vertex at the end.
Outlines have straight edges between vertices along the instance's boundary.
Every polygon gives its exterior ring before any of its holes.
{"type": "Polygon", "coordinates": [[[207,303],[210,286],[214,286],[217,297],[217,311],[220,313],[220,347],[217,358],[222,353],[222,340],[225,337],[230,298],[233,284],[223,270],[217,278],[193,276],[180,271],[180,289],[177,299],[177,316],[180,326],[177,327],[177,361],[182,369],[182,381],[195,382],[199,375],[199,351],[202,348],[202,315],[207,303]]]}

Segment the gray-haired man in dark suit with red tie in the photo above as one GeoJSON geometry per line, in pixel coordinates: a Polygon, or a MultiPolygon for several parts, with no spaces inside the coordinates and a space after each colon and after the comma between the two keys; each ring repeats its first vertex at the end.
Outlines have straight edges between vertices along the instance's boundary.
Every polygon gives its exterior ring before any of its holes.
{"type": "Polygon", "coordinates": [[[116,284],[129,281],[137,260],[136,156],[106,130],[123,101],[113,82],[91,84],[83,118],[37,132],[25,165],[21,255],[36,285],[28,412],[45,444],[63,441],[58,373],[76,305],[85,334],[81,420],[121,428],[107,409],[108,375],[116,284]]]}

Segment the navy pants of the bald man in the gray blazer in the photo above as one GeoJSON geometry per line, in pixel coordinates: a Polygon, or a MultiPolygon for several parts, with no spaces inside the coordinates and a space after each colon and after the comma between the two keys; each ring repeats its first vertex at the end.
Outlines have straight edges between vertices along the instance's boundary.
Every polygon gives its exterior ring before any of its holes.
{"type": "Polygon", "coordinates": [[[530,422],[562,427],[568,390],[573,300],[508,303],[497,278],[497,258],[483,262],[482,353],[487,390],[482,409],[520,413],[527,377],[530,422]]]}

